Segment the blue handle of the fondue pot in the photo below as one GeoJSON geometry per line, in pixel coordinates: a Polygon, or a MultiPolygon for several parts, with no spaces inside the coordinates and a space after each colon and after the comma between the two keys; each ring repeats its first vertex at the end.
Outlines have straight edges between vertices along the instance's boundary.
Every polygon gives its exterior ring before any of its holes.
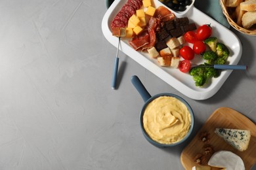
{"type": "Polygon", "coordinates": [[[131,82],[133,83],[133,86],[137,89],[137,91],[140,93],[140,96],[144,100],[144,102],[148,101],[148,99],[151,97],[150,93],[146,90],[146,88],[143,86],[142,82],[140,81],[139,77],[134,75],[131,76],[131,82]]]}

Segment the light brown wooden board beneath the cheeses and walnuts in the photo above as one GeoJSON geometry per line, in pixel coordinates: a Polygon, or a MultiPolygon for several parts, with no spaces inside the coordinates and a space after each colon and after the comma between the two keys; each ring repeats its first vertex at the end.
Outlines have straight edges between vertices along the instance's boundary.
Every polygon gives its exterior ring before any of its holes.
{"type": "MultiPolygon", "coordinates": [[[[194,139],[182,150],[181,163],[185,169],[192,169],[192,167],[198,165],[194,161],[194,158],[196,154],[203,153],[203,147],[206,144],[200,140],[200,134],[202,134],[203,131],[209,133],[209,142],[207,144],[213,146],[215,152],[219,150],[229,150],[242,158],[245,169],[251,169],[251,167],[253,167],[256,162],[256,125],[247,117],[240,114],[240,112],[227,107],[221,107],[211,114],[194,139]],[[214,131],[217,127],[250,130],[251,140],[247,150],[240,152],[227,144],[221,137],[215,135],[214,131]]],[[[210,156],[208,156],[207,159],[209,159],[209,157],[210,156]]]]}

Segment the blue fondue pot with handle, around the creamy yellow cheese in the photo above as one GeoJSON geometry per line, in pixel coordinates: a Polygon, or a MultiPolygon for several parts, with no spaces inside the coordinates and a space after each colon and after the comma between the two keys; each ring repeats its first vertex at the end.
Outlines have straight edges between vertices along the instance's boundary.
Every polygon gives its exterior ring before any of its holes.
{"type": "Polygon", "coordinates": [[[143,86],[142,82],[140,81],[140,79],[138,78],[138,76],[134,75],[131,76],[131,82],[133,83],[133,85],[135,86],[135,88],[137,89],[137,91],[140,93],[142,99],[144,100],[144,105],[142,107],[142,110],[140,112],[140,127],[142,129],[142,133],[144,135],[144,137],[146,138],[146,140],[153,144],[154,146],[158,146],[160,148],[163,147],[170,147],[170,146],[176,146],[178,144],[183,143],[184,141],[186,141],[186,139],[188,139],[188,137],[190,136],[190,134],[192,133],[192,129],[194,127],[194,112],[192,110],[192,108],[190,107],[190,105],[184,100],[182,99],[182,97],[179,97],[178,95],[175,95],[173,93],[159,93],[157,95],[151,96],[150,93],[148,93],[148,91],[146,90],[146,88],[143,86]],[[191,117],[191,124],[190,124],[190,129],[188,131],[188,133],[186,134],[186,136],[184,136],[183,139],[181,139],[181,141],[177,141],[176,143],[171,143],[171,144],[163,144],[163,143],[158,143],[157,141],[154,141],[149,135],[148,133],[146,133],[144,126],[143,126],[143,114],[144,114],[144,110],[146,109],[147,105],[153,101],[154,99],[160,97],[160,96],[169,96],[169,97],[175,97],[176,99],[179,99],[179,101],[181,101],[182,103],[184,103],[184,105],[186,105],[186,107],[188,108],[188,111],[190,113],[190,117],[191,117]]]}

